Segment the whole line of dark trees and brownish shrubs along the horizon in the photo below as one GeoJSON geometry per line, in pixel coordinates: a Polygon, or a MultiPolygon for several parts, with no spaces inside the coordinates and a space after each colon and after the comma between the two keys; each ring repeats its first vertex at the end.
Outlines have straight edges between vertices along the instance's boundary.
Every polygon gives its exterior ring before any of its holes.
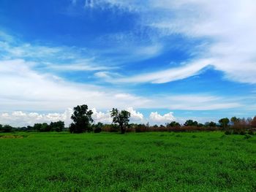
{"type": "Polygon", "coordinates": [[[0,124],[0,132],[12,131],[69,131],[73,134],[83,132],[99,133],[101,131],[118,132],[147,132],[147,131],[225,131],[225,134],[254,134],[256,131],[256,116],[254,118],[221,118],[218,123],[213,121],[204,124],[198,123],[196,120],[187,120],[183,125],[176,121],[166,123],[164,125],[149,126],[145,124],[129,123],[130,112],[127,110],[119,111],[116,108],[110,111],[113,118],[111,124],[94,123],[92,118],[93,112],[89,110],[86,104],[78,105],[73,108],[71,116],[72,123],[68,128],[64,126],[64,121],[48,123],[35,123],[34,126],[26,126],[15,128],[10,125],[2,126],[0,124]]]}

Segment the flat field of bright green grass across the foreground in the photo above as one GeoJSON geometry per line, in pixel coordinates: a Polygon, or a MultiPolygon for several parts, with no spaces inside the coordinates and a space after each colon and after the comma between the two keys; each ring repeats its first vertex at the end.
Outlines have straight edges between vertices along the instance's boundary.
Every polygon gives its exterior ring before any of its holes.
{"type": "Polygon", "coordinates": [[[1,134],[0,154],[0,191],[256,191],[256,137],[222,132],[1,134]]]}

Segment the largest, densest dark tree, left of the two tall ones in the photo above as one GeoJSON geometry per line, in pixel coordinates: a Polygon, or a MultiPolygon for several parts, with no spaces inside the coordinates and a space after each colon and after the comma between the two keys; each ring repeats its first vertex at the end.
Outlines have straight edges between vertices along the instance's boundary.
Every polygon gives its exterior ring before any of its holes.
{"type": "Polygon", "coordinates": [[[93,112],[88,110],[86,104],[74,107],[74,112],[71,116],[73,123],[69,126],[69,131],[74,134],[80,134],[85,131],[91,131],[91,123],[94,120],[91,118],[93,112]]]}

